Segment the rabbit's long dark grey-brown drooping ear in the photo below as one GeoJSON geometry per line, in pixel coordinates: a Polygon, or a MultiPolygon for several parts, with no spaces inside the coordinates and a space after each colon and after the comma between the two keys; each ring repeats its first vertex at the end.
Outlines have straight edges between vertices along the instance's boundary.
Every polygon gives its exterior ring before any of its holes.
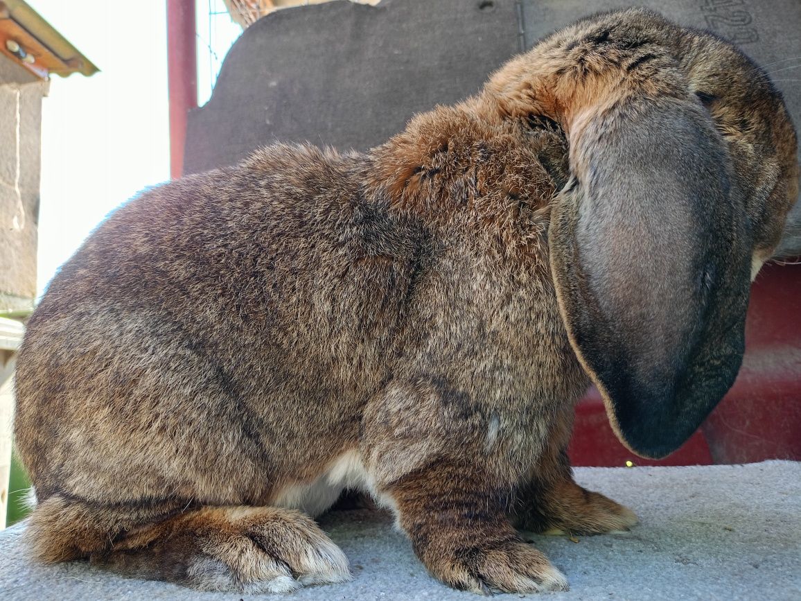
{"type": "Polygon", "coordinates": [[[635,453],[681,446],[743,357],[751,240],[731,160],[694,99],[591,110],[571,135],[550,261],[570,341],[635,453]]]}

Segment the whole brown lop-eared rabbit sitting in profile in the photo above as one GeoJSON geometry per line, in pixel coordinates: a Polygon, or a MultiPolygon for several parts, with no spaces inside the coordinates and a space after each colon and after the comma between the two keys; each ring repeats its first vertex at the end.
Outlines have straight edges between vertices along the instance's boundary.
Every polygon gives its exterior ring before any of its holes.
{"type": "Polygon", "coordinates": [[[644,456],[690,436],[739,369],[795,151],[759,67],[626,10],[363,155],[268,147],[144,193],[28,324],[35,555],[208,590],[341,582],[309,515],[347,487],[453,587],[565,588],[514,526],[636,522],[574,482],[575,401],[593,381],[644,456]]]}

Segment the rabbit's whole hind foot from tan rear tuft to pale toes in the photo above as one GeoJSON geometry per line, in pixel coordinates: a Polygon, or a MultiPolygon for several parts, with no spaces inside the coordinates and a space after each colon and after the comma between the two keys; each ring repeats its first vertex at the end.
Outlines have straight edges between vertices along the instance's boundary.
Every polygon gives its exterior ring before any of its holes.
{"type": "Polygon", "coordinates": [[[276,593],[351,579],[348,559],[312,518],[279,507],[103,506],[55,494],[34,510],[26,537],[44,563],[88,558],[207,591],[276,593]]]}

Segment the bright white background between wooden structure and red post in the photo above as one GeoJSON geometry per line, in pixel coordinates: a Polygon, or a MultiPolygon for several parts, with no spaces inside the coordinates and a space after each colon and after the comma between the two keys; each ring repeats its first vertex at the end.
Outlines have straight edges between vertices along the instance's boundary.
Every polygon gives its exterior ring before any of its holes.
{"type": "Polygon", "coordinates": [[[42,106],[38,290],[111,209],[169,178],[164,0],[28,0],[101,70],[42,106]]]}

